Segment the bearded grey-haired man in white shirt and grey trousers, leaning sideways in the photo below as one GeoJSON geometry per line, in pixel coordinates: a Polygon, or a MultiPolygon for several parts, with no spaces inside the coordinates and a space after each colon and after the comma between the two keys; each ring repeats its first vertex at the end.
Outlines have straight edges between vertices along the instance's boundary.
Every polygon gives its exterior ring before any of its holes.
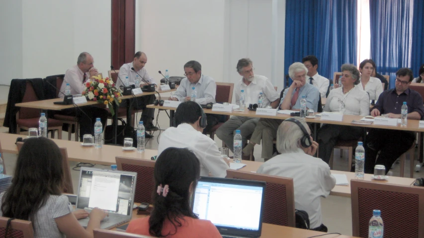
{"type": "MultiPolygon", "coordinates": [[[[237,72],[242,76],[242,79],[236,83],[234,92],[236,94],[236,104],[240,105],[241,90],[244,90],[245,105],[257,104],[260,93],[262,93],[263,101],[262,108],[278,106],[279,95],[274,89],[271,81],[262,75],[255,75],[253,62],[249,58],[239,60],[237,63],[237,72]]],[[[216,131],[216,135],[220,138],[228,148],[233,151],[233,138],[235,130],[240,130],[243,144],[246,143],[246,138],[254,132],[256,123],[259,118],[251,117],[231,117],[216,131]]]]}

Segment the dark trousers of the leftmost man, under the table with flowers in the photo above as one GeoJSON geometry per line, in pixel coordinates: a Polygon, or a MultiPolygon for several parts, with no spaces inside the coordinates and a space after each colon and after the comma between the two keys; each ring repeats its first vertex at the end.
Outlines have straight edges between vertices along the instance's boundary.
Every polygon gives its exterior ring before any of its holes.
{"type": "MultiPolygon", "coordinates": [[[[96,122],[96,118],[100,118],[101,124],[104,127],[107,120],[107,111],[95,106],[84,106],[80,107],[80,109],[66,109],[56,114],[77,117],[80,123],[80,141],[83,141],[83,136],[85,134],[94,135],[94,123],[96,122]]],[[[71,133],[71,128],[68,128],[68,133],[71,133]]]]}

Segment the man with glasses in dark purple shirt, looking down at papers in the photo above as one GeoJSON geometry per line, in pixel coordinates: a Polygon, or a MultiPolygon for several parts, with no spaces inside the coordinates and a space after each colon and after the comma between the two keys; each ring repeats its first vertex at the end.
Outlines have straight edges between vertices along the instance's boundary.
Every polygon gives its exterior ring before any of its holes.
{"type": "MultiPolygon", "coordinates": [[[[401,107],[406,102],[408,119],[423,119],[423,98],[418,92],[408,88],[413,78],[411,69],[399,69],[396,72],[396,87],[380,94],[371,116],[401,118],[401,107]]],[[[364,142],[365,173],[372,174],[375,165],[384,165],[387,174],[392,164],[411,148],[414,141],[413,131],[370,129],[364,142]],[[378,152],[380,154],[377,158],[378,152]]]]}

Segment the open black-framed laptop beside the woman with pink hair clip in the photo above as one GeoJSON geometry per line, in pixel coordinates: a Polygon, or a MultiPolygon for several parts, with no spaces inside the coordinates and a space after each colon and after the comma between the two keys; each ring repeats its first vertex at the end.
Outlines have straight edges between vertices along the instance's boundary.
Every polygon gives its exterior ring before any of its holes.
{"type": "Polygon", "coordinates": [[[211,221],[224,238],[260,237],[265,186],[263,181],[202,177],[193,212],[211,221]]]}

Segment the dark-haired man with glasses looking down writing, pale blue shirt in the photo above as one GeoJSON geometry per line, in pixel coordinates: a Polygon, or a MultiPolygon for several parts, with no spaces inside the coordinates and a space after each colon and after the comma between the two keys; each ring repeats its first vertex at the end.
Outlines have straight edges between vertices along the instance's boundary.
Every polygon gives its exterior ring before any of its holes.
{"type": "MultiPolygon", "coordinates": [[[[202,74],[202,65],[195,61],[190,60],[184,64],[184,76],[173,94],[169,97],[169,100],[174,101],[191,101],[191,91],[194,87],[196,90],[196,100],[195,102],[200,105],[205,105],[208,103],[216,103],[216,83],[213,78],[202,74]]],[[[214,125],[218,123],[219,115],[207,115],[207,126],[203,130],[205,134],[208,132],[214,125]]]]}

